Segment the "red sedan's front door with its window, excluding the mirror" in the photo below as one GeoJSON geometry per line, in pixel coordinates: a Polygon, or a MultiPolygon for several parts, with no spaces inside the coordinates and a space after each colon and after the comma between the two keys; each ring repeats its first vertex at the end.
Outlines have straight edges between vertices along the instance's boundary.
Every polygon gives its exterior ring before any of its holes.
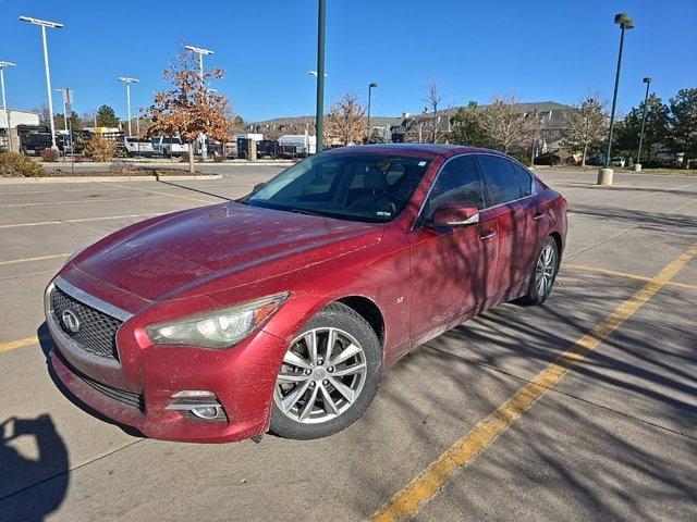
{"type": "Polygon", "coordinates": [[[484,208],[484,192],[472,154],[449,160],[433,182],[411,244],[412,313],[415,343],[442,332],[453,320],[484,308],[496,295],[498,222],[487,211],[479,223],[427,227],[437,207],[457,201],[484,208]]]}

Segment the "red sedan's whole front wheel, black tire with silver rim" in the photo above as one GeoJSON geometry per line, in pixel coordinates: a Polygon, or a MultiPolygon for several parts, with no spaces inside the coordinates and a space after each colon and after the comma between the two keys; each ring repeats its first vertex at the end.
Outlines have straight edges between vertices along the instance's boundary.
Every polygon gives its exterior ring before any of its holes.
{"type": "Polygon", "coordinates": [[[328,304],[309,320],[285,353],[273,391],[271,433],[284,438],[311,439],[327,437],[348,427],[372,402],[381,374],[382,349],[370,325],[345,304],[328,304]],[[334,332],[335,343],[327,356],[330,330],[334,332]],[[316,364],[305,368],[296,364],[296,357],[304,364],[311,361],[310,343],[307,339],[315,339],[317,358],[316,364]],[[355,352],[356,348],[356,355],[341,360],[346,353],[355,352]],[[331,365],[332,362],[335,366],[331,365]],[[365,364],[364,369],[359,369],[362,363],[365,364]],[[363,374],[362,370],[365,370],[363,374]],[[311,372],[309,376],[307,372],[311,372]],[[337,376],[340,372],[347,373],[337,376]],[[303,381],[289,382],[289,378],[303,381]],[[347,393],[346,389],[353,391],[348,394],[353,397],[351,401],[343,395],[347,393]],[[333,408],[327,401],[327,396],[333,408]],[[303,419],[303,415],[306,417],[303,419]]]}

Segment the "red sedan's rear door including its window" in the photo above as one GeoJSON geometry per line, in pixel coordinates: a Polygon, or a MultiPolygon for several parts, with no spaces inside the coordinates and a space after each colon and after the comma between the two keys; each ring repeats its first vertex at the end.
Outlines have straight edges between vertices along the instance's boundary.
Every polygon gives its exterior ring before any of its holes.
{"type": "Polygon", "coordinates": [[[523,192],[506,158],[496,154],[477,154],[485,181],[485,198],[488,211],[496,216],[499,233],[499,262],[497,268],[498,298],[523,281],[528,270],[528,241],[525,223],[523,192]]]}

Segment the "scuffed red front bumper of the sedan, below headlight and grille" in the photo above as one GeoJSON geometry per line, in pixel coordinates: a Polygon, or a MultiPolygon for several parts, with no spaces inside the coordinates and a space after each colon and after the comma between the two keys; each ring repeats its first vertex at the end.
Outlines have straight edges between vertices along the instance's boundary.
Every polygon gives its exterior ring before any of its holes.
{"type": "Polygon", "coordinates": [[[268,430],[276,376],[286,349],[283,339],[257,331],[224,350],[143,346],[138,335],[143,328],[130,315],[117,333],[119,361],[105,361],[71,343],[49,301],[46,320],[54,343],[51,365],[65,387],[100,414],[164,440],[224,443],[268,430]],[[191,389],[215,393],[228,420],[192,420],[166,409],[172,395],[191,389]],[[137,397],[137,401],[124,401],[121,395],[137,397]]]}

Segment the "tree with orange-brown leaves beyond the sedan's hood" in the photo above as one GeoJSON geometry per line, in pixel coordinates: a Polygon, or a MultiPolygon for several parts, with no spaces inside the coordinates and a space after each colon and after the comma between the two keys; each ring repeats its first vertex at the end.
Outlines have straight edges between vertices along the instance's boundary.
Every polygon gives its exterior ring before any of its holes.
{"type": "Polygon", "coordinates": [[[182,52],[166,70],[171,90],[157,92],[148,110],[152,124],[145,136],[179,135],[188,144],[188,170],[194,172],[194,141],[203,133],[225,142],[230,140],[232,111],[224,95],[210,91],[207,84],[224,76],[222,69],[209,69],[201,77],[192,53],[182,52]]]}

